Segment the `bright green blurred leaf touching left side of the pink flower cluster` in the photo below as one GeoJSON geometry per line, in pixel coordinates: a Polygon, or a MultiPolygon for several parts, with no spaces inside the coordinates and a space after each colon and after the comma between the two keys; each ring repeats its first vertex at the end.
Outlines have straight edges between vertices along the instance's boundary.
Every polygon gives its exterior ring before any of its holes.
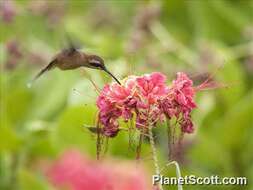
{"type": "Polygon", "coordinates": [[[94,105],[67,108],[59,118],[55,134],[60,149],[79,148],[95,155],[96,141],[84,125],[95,126],[94,105]]]}

